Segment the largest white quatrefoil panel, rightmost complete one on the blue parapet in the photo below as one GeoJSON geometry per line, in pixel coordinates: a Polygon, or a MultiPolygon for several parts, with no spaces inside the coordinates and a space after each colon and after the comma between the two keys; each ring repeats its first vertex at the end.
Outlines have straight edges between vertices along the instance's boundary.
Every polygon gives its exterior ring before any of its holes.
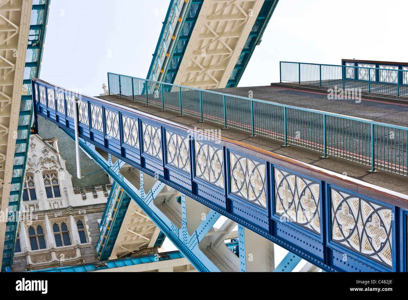
{"type": "Polygon", "coordinates": [[[392,210],[330,188],[332,240],[392,266],[392,210]]]}

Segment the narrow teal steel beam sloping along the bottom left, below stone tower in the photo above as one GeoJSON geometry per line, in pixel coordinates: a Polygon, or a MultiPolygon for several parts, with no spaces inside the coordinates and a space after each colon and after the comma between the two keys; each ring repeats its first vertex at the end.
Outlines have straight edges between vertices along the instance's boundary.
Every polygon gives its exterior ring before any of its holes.
{"type": "Polygon", "coordinates": [[[79,264],[77,266],[49,268],[30,272],[92,272],[100,271],[104,269],[115,269],[126,266],[134,266],[137,264],[146,264],[149,262],[158,262],[163,260],[173,260],[177,258],[183,258],[183,254],[179,251],[171,251],[165,253],[157,253],[151,255],[143,255],[137,257],[128,257],[117,260],[106,260],[102,262],[96,262],[93,264],[79,264]],[[157,255],[158,254],[158,255],[157,255]]]}

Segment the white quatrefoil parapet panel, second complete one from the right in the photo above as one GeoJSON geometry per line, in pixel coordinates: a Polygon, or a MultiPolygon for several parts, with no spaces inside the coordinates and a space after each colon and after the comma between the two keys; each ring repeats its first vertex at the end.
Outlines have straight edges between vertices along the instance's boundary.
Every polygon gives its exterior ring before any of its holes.
{"type": "Polygon", "coordinates": [[[320,184],[273,168],[275,213],[320,234],[320,184]]]}

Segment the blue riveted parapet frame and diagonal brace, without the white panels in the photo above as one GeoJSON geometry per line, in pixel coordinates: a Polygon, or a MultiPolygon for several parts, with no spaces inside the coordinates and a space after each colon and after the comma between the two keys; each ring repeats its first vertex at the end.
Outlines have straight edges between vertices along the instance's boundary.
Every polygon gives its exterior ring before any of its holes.
{"type": "MultiPolygon", "coordinates": [[[[38,83],[39,85],[45,85],[48,89],[54,88],[51,84],[41,80],[35,79],[33,82],[38,83]]],[[[293,173],[294,176],[297,176],[298,174],[302,178],[306,178],[306,180],[308,180],[307,178],[310,178],[318,182],[321,216],[319,227],[320,233],[315,233],[295,224],[294,222],[285,222],[275,213],[274,195],[276,191],[274,187],[275,178],[273,170],[274,168],[282,169],[282,161],[285,160],[284,158],[277,157],[273,154],[259,152],[256,149],[251,149],[249,146],[242,146],[231,141],[227,142],[222,138],[215,138],[217,142],[214,142],[213,147],[220,147],[225,162],[223,166],[223,173],[225,176],[224,187],[215,187],[215,185],[209,183],[204,184],[203,180],[200,180],[195,176],[196,173],[194,169],[196,158],[192,151],[194,149],[193,144],[195,141],[200,141],[197,140],[197,132],[194,134],[192,133],[192,129],[184,128],[180,126],[180,124],[157,118],[128,107],[123,107],[113,102],[107,102],[84,95],[81,96],[81,99],[81,101],[85,103],[84,109],[89,109],[90,104],[99,105],[103,110],[117,112],[119,120],[122,120],[122,116],[131,116],[135,122],[139,124],[139,128],[142,128],[142,125],[153,125],[157,127],[157,130],[158,128],[161,129],[161,133],[155,138],[157,142],[155,147],[161,149],[162,156],[159,158],[146,153],[144,147],[147,146],[144,145],[142,141],[147,140],[144,139],[141,131],[139,132],[137,147],[130,148],[123,142],[122,135],[124,133],[122,132],[122,127],[120,127],[118,133],[120,139],[113,143],[111,136],[106,135],[106,132],[99,134],[90,127],[91,114],[89,114],[87,116],[88,119],[84,121],[88,125],[85,126],[84,124],[79,124],[80,144],[82,149],[89,153],[89,155],[91,155],[101,167],[106,168],[109,175],[120,184],[126,193],[135,200],[137,205],[144,210],[160,230],[171,239],[176,247],[178,247],[188,260],[190,260],[200,271],[208,271],[209,269],[207,266],[211,264],[203,262],[206,259],[208,260],[206,257],[201,256],[200,259],[197,259],[200,256],[200,253],[198,251],[194,252],[195,249],[197,249],[194,248],[197,247],[195,239],[200,237],[200,234],[198,233],[199,230],[197,229],[195,233],[197,234],[196,238],[194,238],[195,235],[182,236],[185,234],[185,231],[175,228],[174,224],[172,225],[172,223],[169,223],[168,218],[166,218],[166,216],[164,216],[163,213],[152,204],[153,198],[160,191],[161,184],[167,184],[170,187],[173,187],[182,194],[210,207],[215,214],[221,213],[224,216],[235,220],[239,226],[244,226],[255,231],[276,244],[279,244],[281,247],[293,252],[297,256],[304,258],[327,271],[402,271],[405,268],[400,262],[401,257],[406,257],[406,249],[403,247],[397,247],[404,242],[403,239],[405,239],[406,236],[406,231],[402,232],[399,230],[402,226],[401,222],[405,222],[405,220],[402,221],[403,218],[394,218],[394,220],[390,221],[390,228],[392,228],[392,253],[390,253],[392,266],[385,266],[374,259],[364,256],[362,253],[351,250],[348,247],[344,247],[338,242],[333,242],[331,240],[330,189],[335,188],[339,191],[344,191],[345,193],[364,199],[364,201],[384,206],[385,208],[390,209],[395,216],[398,216],[402,209],[404,209],[404,211],[408,209],[408,197],[401,194],[397,195],[397,193],[387,190],[376,189],[375,187],[366,187],[366,183],[356,182],[355,180],[341,177],[335,173],[324,171],[308,164],[303,164],[301,162],[295,163],[291,160],[287,160],[285,162],[286,170],[293,173]],[[189,164],[190,169],[188,176],[186,175],[186,171],[171,167],[169,162],[166,161],[164,153],[166,153],[167,148],[165,136],[165,132],[167,131],[177,133],[180,136],[191,136],[191,138],[188,138],[189,149],[191,150],[189,153],[189,160],[191,163],[189,164]],[[82,139],[86,142],[82,142],[82,139]],[[95,146],[120,158],[120,160],[113,165],[107,164],[98,151],[95,150],[95,146]],[[129,153],[132,154],[130,155],[129,153]],[[240,155],[251,160],[253,164],[259,163],[261,166],[265,166],[266,180],[264,186],[266,207],[260,207],[259,205],[248,202],[231,192],[230,181],[233,175],[230,171],[231,155],[240,155]],[[125,162],[149,176],[157,176],[158,174],[158,180],[160,180],[160,182],[157,182],[148,193],[135,189],[126,181],[126,178],[123,178],[123,176],[119,174],[120,166],[125,162]],[[109,165],[111,165],[111,167],[107,168],[109,165]],[[355,191],[359,191],[359,193],[356,193],[355,191]],[[364,193],[364,195],[362,195],[362,193],[364,193]],[[348,257],[346,263],[344,263],[343,260],[344,254],[348,257]]],[[[69,118],[59,118],[58,115],[55,115],[55,112],[53,113],[52,109],[42,104],[38,105],[36,113],[44,116],[44,118],[47,118],[55,124],[58,124],[71,138],[73,138],[74,127],[73,122],[69,118]]],[[[104,119],[103,127],[106,128],[107,124],[108,123],[104,119]]],[[[120,123],[120,126],[122,125],[123,124],[120,123]]],[[[207,143],[207,141],[201,142],[207,143]]],[[[141,176],[141,189],[143,186],[142,181],[143,176],[141,176]]],[[[184,212],[183,216],[185,216],[184,212]]],[[[208,220],[208,222],[210,222],[210,220],[208,220]]],[[[206,228],[208,228],[208,224],[206,228]]],[[[201,236],[203,235],[205,235],[205,233],[201,236]]]]}

